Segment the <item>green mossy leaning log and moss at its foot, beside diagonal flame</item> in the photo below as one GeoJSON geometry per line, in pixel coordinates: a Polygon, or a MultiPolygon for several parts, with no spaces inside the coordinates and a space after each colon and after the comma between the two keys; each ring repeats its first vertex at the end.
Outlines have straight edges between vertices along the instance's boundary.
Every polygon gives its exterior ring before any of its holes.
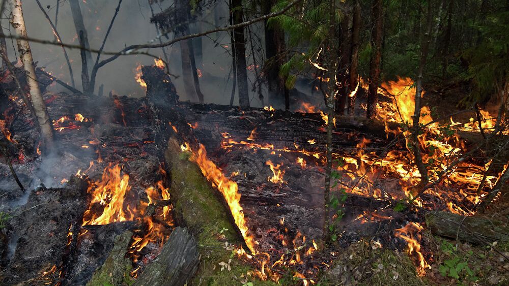
{"type": "MultiPolygon", "coordinates": [[[[191,284],[231,285],[237,283],[237,279],[240,283],[241,275],[246,276],[253,269],[236,259],[231,248],[231,243],[238,243],[241,238],[228,218],[230,210],[218,200],[215,195],[218,191],[212,188],[200,168],[189,161],[189,155],[181,151],[176,139],[168,140],[164,157],[171,169],[174,216],[178,225],[189,228],[196,235],[200,249],[200,268],[191,284]],[[220,262],[230,267],[223,268],[220,262]]],[[[257,281],[256,284],[274,283],[257,281]]]]}

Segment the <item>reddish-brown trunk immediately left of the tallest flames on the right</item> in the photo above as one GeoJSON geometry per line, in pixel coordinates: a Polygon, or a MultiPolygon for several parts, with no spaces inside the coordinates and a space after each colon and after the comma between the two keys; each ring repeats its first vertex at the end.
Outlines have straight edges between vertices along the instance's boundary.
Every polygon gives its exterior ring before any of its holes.
{"type": "Polygon", "coordinates": [[[374,51],[370,63],[370,85],[367,94],[367,118],[375,116],[378,102],[378,78],[380,77],[380,57],[382,45],[382,0],[374,0],[372,7],[373,33],[371,35],[374,51]]]}

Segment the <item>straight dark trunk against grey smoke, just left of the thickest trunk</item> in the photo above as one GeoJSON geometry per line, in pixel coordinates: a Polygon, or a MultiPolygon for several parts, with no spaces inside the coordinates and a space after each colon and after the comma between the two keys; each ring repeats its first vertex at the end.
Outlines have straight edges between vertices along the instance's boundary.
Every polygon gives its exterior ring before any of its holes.
{"type": "MultiPolygon", "coordinates": [[[[233,13],[233,23],[242,23],[244,13],[242,0],[232,0],[230,10],[233,13]]],[[[237,67],[237,84],[239,87],[239,104],[241,107],[249,107],[249,90],[247,87],[246,47],[244,27],[233,30],[235,38],[235,65],[237,67]]]]}

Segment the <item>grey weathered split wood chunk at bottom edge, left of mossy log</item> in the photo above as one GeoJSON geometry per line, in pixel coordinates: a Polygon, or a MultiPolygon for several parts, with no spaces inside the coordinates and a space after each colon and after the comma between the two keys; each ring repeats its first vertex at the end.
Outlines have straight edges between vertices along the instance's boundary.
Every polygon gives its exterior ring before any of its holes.
{"type": "Polygon", "coordinates": [[[140,274],[134,285],[185,285],[198,269],[197,241],[185,228],[177,227],[159,256],[140,274]]]}

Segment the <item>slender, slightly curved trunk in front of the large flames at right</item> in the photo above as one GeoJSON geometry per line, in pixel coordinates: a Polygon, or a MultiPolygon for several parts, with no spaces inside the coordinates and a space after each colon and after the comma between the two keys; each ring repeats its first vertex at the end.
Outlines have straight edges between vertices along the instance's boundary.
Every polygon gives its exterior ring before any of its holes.
{"type": "Polygon", "coordinates": [[[417,70],[417,82],[415,83],[415,109],[413,114],[413,122],[412,122],[412,152],[414,155],[415,165],[420,173],[420,182],[417,185],[416,191],[417,195],[415,197],[420,196],[422,190],[424,190],[425,186],[428,184],[428,169],[426,168],[424,162],[422,162],[422,154],[420,152],[419,147],[419,119],[420,119],[420,110],[421,110],[421,95],[422,95],[422,77],[424,73],[424,69],[426,67],[426,59],[428,57],[428,50],[431,43],[431,28],[433,24],[432,18],[432,9],[431,9],[431,1],[428,1],[428,16],[427,16],[427,28],[426,33],[424,35],[424,43],[422,44],[419,68],[417,70]]]}

